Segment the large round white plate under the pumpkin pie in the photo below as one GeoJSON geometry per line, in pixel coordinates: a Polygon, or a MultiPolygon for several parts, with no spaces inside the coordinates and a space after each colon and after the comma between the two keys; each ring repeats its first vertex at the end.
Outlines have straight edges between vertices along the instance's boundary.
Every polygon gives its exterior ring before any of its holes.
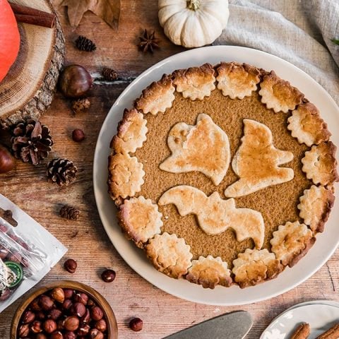
{"type": "Polygon", "coordinates": [[[141,90],[152,81],[159,80],[162,73],[171,73],[175,69],[197,66],[206,62],[217,64],[220,61],[246,62],[266,70],[274,69],[278,76],[297,86],[311,102],[314,102],[319,107],[321,115],[327,121],[333,133],[333,142],[339,145],[339,108],[326,90],[306,73],[287,61],[256,49],[234,46],[203,47],[191,49],[160,61],[143,72],[141,76],[138,76],[121,93],[109,110],[97,139],[93,181],[97,208],[109,239],[111,239],[112,244],[114,244],[122,258],[136,273],[171,295],[202,304],[227,306],[249,304],[275,297],[291,290],[304,280],[307,280],[316,270],[319,270],[338,246],[339,232],[337,232],[338,227],[335,220],[339,218],[339,209],[333,208],[331,217],[326,223],[325,232],[318,235],[316,244],[295,268],[287,268],[277,279],[244,290],[240,290],[237,286],[230,288],[217,286],[214,290],[207,290],[186,280],[168,278],[167,275],[155,270],[145,258],[143,251],[137,249],[132,242],[126,240],[121,233],[117,224],[116,208],[107,194],[109,142],[117,131],[117,123],[122,117],[124,108],[132,107],[133,100],[141,94],[141,90]]]}

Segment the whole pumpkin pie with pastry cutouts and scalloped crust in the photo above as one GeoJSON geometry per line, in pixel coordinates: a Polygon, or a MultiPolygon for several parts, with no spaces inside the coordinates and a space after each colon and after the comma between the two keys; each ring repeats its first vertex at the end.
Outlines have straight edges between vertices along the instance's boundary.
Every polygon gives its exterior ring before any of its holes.
{"type": "Polygon", "coordinates": [[[273,279],[325,230],[338,181],[330,137],[274,71],[222,62],[165,74],[125,109],[110,145],[121,230],[172,278],[273,279]]]}

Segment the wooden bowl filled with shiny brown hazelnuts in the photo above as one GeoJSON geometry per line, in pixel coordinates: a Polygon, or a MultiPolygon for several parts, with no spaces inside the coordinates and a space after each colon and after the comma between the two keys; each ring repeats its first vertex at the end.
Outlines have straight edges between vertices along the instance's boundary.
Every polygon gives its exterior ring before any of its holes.
{"type": "Polygon", "coordinates": [[[61,280],[41,287],[16,310],[11,339],[117,339],[112,308],[92,287],[61,280]]]}

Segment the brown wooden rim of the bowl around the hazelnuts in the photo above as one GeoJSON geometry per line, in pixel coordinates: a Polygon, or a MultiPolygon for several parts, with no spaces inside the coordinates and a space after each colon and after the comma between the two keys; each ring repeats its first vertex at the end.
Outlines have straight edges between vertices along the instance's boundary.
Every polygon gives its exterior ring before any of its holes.
{"type": "Polygon", "coordinates": [[[20,323],[20,319],[25,309],[28,308],[28,305],[35,298],[39,297],[39,295],[42,295],[49,290],[53,290],[55,287],[71,288],[72,290],[85,292],[91,299],[93,299],[96,302],[98,306],[102,308],[102,311],[104,312],[104,316],[107,321],[107,339],[118,338],[117,320],[115,319],[112,308],[109,306],[109,303],[107,302],[107,300],[104,297],[102,297],[102,295],[100,295],[99,292],[97,292],[96,290],[94,290],[92,287],[88,285],[77,283],[76,281],[71,281],[71,280],[60,280],[60,281],[54,281],[53,283],[49,283],[45,285],[44,287],[40,287],[35,292],[32,292],[32,294],[20,304],[20,306],[16,310],[16,313],[13,316],[13,320],[11,323],[10,339],[18,339],[17,332],[18,332],[18,326],[20,323]]]}

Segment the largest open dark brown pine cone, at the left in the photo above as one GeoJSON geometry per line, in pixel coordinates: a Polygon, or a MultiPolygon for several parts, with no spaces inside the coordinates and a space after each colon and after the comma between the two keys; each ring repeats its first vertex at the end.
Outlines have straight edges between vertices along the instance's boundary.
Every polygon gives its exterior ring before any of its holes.
{"type": "Polygon", "coordinates": [[[53,145],[49,128],[33,119],[18,123],[11,131],[14,156],[23,162],[38,165],[48,156],[53,145]]]}

